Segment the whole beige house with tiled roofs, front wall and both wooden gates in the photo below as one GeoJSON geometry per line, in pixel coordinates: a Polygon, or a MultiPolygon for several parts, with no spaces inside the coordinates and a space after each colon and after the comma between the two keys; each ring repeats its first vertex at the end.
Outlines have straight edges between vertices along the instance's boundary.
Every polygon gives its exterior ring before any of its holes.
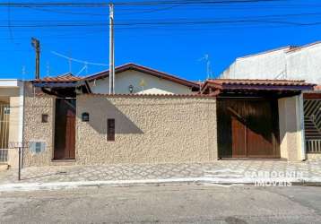
{"type": "Polygon", "coordinates": [[[126,69],[117,69],[116,94],[107,93],[108,72],[26,85],[23,138],[30,147],[24,166],[306,157],[301,92],[314,84],[208,80],[197,89],[194,82],[140,65],[121,67],[126,69]],[[142,77],[147,90],[157,90],[130,91],[142,77]]]}

